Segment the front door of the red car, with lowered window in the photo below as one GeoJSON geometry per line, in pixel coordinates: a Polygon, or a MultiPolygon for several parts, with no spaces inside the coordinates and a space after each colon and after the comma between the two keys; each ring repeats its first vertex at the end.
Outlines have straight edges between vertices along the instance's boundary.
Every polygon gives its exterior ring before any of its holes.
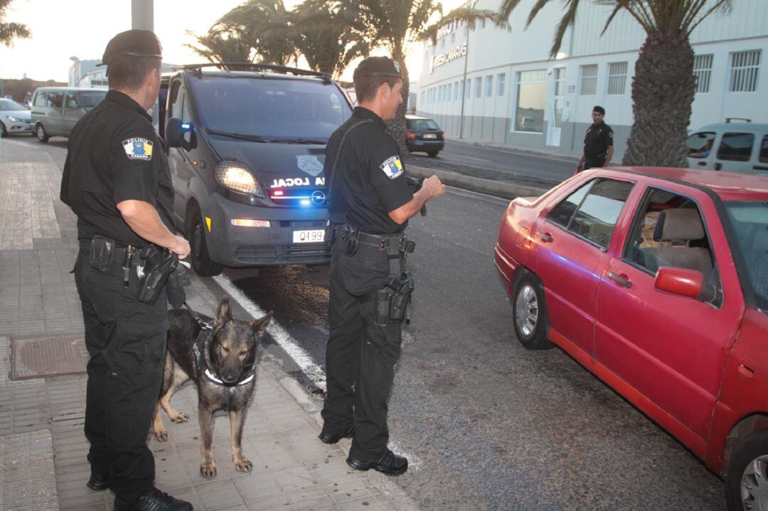
{"type": "Polygon", "coordinates": [[[596,358],[653,404],[635,403],[701,450],[743,311],[713,199],[692,187],[649,185],[621,246],[621,257],[611,258],[601,276],[596,358]],[[657,289],[657,268],[664,266],[701,271],[710,296],[657,289]]]}

